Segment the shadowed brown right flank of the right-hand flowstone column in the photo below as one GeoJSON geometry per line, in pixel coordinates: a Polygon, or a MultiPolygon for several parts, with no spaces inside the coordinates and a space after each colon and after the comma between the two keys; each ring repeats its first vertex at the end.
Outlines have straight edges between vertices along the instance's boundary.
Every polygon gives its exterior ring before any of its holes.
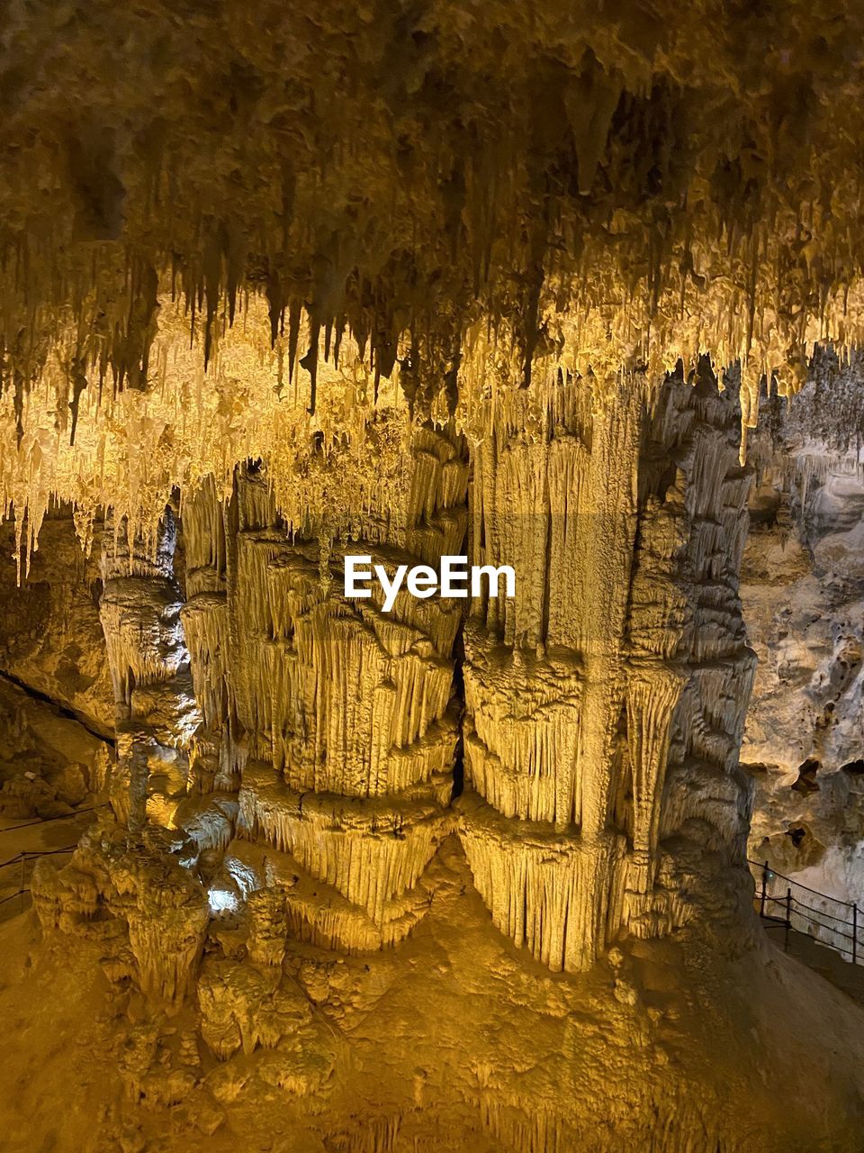
{"type": "Polygon", "coordinates": [[[735,917],[750,905],[752,782],[738,758],[756,655],[746,643],[738,574],[752,469],[740,464],[740,445],[734,382],[718,391],[707,361],[692,385],[666,382],[639,475],[629,662],[672,665],[683,683],[668,738],[653,753],[645,736],[654,698],[643,689],[643,702],[632,702],[634,796],[642,792],[645,815],[624,920],[642,936],[699,912],[735,917]]]}

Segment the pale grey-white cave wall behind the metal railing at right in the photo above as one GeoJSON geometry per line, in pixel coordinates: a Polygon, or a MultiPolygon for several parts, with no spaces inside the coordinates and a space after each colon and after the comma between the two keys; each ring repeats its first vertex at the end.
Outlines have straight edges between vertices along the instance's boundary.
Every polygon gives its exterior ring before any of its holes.
{"type": "MultiPolygon", "coordinates": [[[[763,447],[767,464],[742,568],[744,618],[759,657],[741,751],[757,790],[749,856],[861,903],[864,476],[854,450],[797,431],[763,447]]],[[[828,917],[849,917],[833,902],[806,899],[828,917]]]]}

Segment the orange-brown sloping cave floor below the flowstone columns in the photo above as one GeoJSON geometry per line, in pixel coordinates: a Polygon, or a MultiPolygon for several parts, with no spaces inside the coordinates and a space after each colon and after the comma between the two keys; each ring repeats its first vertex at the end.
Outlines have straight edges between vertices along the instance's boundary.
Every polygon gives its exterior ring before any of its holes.
{"type": "Polygon", "coordinates": [[[859,1151],[864,1010],[755,921],[725,959],[685,932],[554,974],[492,927],[457,845],[439,857],[439,899],[400,948],[289,942],[318,1038],[295,1060],[318,1086],[274,1085],[285,1054],[200,1045],[206,1109],[129,1093],[130,1038],[194,1028],[194,1007],[119,992],[98,943],[43,939],[32,912],[1,926],[6,1153],[859,1151]]]}

